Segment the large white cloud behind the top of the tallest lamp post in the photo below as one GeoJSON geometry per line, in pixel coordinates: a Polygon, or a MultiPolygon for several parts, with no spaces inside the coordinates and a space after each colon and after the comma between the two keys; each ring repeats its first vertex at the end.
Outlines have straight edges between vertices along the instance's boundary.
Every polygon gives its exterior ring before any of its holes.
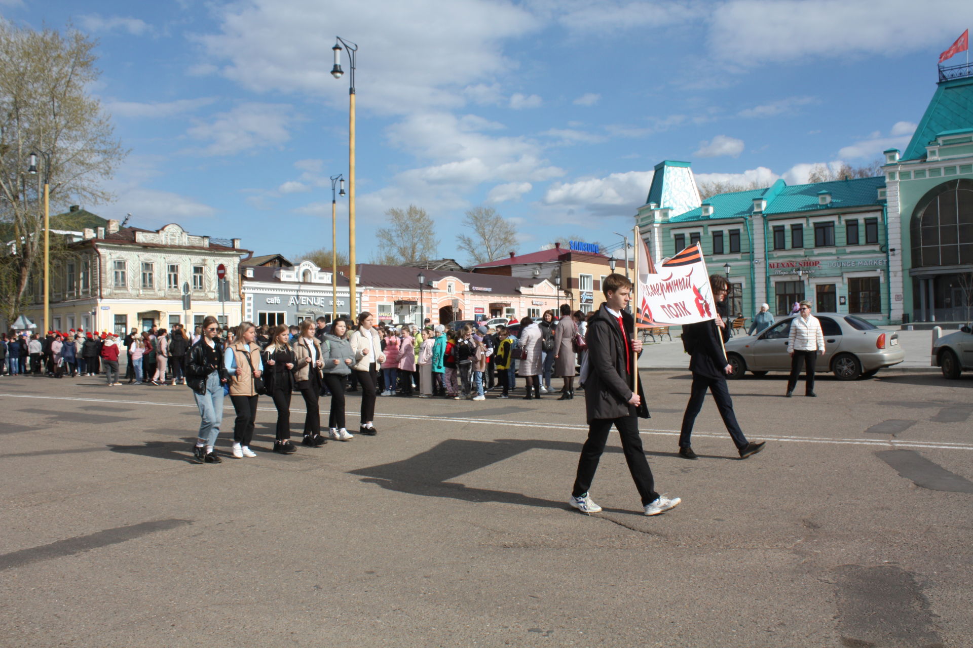
{"type": "MultiPolygon", "coordinates": [[[[348,81],[331,77],[333,41],[323,35],[367,34],[356,79],[368,97],[362,107],[390,114],[463,105],[478,93],[468,88],[486,90],[517,67],[503,55],[502,41],[541,26],[522,7],[492,0],[251,0],[215,11],[219,33],[198,41],[221,74],[256,92],[323,96],[335,106],[347,101],[348,81]]],[[[489,95],[480,92],[481,99],[489,95]]]]}

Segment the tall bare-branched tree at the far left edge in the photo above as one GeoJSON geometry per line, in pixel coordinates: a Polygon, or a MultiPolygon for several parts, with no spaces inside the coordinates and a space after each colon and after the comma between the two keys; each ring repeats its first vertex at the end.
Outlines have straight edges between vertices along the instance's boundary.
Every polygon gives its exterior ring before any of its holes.
{"type": "MultiPolygon", "coordinates": [[[[97,81],[96,43],[71,31],[34,31],[0,22],[0,314],[14,320],[29,277],[43,268],[43,187],[51,201],[104,202],[99,186],[126,155],[89,88],[97,81]],[[38,153],[36,175],[27,175],[38,153]]],[[[45,323],[45,325],[50,325],[45,323]]]]}

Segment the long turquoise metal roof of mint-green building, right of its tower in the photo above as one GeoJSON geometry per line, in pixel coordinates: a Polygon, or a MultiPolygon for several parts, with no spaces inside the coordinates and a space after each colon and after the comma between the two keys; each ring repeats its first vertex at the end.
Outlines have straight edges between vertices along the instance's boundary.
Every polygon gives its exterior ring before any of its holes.
{"type": "Polygon", "coordinates": [[[747,217],[753,214],[755,198],[763,198],[767,201],[764,213],[768,215],[879,206],[882,204],[879,201],[879,188],[884,186],[885,179],[883,177],[836,180],[792,187],[788,187],[783,180],[778,180],[773,186],[766,189],[751,189],[710,196],[706,199],[706,202],[713,206],[712,216],[704,217],[703,210],[697,208],[674,216],[669,219],[669,222],[717,221],[747,217]],[[818,204],[817,196],[822,192],[831,194],[831,204],[818,204]]]}

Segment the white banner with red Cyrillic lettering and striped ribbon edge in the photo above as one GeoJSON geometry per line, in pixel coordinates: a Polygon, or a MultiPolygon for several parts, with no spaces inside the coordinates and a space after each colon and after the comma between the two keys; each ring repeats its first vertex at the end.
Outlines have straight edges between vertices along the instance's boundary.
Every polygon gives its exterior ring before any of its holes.
{"type": "Polygon", "coordinates": [[[638,249],[639,326],[694,324],[719,317],[700,244],[653,265],[644,241],[638,249]]]}

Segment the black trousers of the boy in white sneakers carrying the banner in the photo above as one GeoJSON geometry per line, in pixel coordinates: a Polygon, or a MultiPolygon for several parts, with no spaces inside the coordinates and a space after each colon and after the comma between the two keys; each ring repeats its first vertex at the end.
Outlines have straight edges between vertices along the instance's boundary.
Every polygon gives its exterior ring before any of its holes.
{"type": "Polygon", "coordinates": [[[638,435],[638,420],[633,416],[625,416],[619,419],[595,419],[588,426],[588,440],[585,441],[585,445],[581,449],[581,458],[578,460],[578,474],[575,477],[574,489],[571,494],[580,497],[591,489],[592,480],[595,479],[595,470],[598,469],[598,460],[601,459],[601,453],[604,452],[611,426],[616,426],[619,435],[622,437],[622,452],[625,453],[625,460],[629,464],[631,479],[635,482],[638,495],[642,497],[642,505],[651,504],[659,498],[659,494],[655,491],[652,469],[649,468],[649,462],[645,459],[645,451],[642,450],[642,437],[638,435]]]}

